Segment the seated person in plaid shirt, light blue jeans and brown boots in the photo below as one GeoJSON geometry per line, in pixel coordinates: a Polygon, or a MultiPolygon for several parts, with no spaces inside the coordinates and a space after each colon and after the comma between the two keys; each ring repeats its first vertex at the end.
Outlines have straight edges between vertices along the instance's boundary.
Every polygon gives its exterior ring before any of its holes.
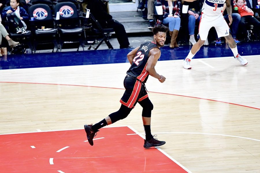
{"type": "Polygon", "coordinates": [[[170,48],[179,47],[176,38],[181,27],[180,18],[180,0],[157,0],[157,6],[161,5],[163,9],[163,19],[157,19],[156,25],[169,24],[171,43],[170,48]]]}

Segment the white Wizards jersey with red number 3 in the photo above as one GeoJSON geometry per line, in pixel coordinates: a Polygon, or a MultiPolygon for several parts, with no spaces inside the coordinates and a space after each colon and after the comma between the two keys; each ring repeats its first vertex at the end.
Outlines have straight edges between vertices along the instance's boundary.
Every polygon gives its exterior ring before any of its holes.
{"type": "Polygon", "coordinates": [[[218,16],[226,0],[205,0],[201,12],[207,16],[218,16]]]}

